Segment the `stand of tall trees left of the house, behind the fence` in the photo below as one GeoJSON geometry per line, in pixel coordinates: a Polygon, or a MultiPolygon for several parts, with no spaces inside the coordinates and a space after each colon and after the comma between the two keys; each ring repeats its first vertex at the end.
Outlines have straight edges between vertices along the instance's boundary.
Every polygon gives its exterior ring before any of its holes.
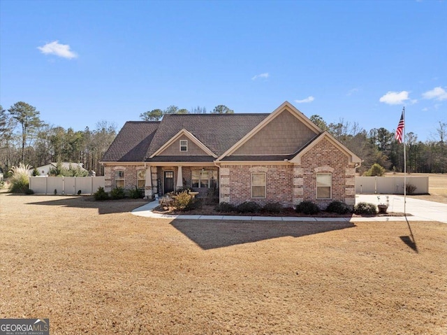
{"type": "Polygon", "coordinates": [[[97,122],[95,129],[75,131],[45,123],[36,107],[23,101],[8,110],[0,106],[0,168],[6,173],[19,163],[36,168],[73,162],[102,176],[99,162],[116,134],[116,125],[106,120],[97,122]]]}

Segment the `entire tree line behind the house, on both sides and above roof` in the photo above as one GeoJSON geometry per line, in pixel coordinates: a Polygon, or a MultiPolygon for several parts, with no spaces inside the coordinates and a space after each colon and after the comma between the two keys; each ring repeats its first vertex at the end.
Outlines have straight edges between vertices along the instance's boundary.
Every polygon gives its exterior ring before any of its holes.
{"type": "MultiPolygon", "coordinates": [[[[153,109],[141,113],[142,120],[160,120],[166,114],[205,114],[205,107],[186,110],[169,106],[165,110],[153,109]]],[[[210,113],[234,113],[225,105],[216,106],[210,113]]],[[[404,171],[404,145],[394,138],[394,130],[374,128],[362,129],[357,122],[340,119],[339,122],[325,122],[319,115],[310,120],[328,131],[363,159],[358,171],[363,173],[373,164],[380,164],[389,171],[404,171]]],[[[7,111],[0,106],[0,167],[3,172],[20,162],[41,166],[49,162],[82,163],[88,171],[103,175],[101,161],[117,134],[114,123],[105,120],[96,123],[95,129],[86,127],[83,131],[53,126],[41,120],[40,112],[34,106],[19,101],[7,111]]],[[[406,134],[406,171],[445,173],[447,171],[447,123],[438,122],[434,138],[418,141],[412,132],[406,134]]]]}

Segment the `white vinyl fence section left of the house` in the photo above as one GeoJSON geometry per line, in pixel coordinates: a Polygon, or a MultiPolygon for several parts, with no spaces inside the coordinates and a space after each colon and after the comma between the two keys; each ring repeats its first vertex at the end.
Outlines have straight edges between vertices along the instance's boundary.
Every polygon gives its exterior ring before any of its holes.
{"type": "Polygon", "coordinates": [[[105,177],[29,177],[29,188],[36,194],[92,194],[104,187],[105,177]]]}

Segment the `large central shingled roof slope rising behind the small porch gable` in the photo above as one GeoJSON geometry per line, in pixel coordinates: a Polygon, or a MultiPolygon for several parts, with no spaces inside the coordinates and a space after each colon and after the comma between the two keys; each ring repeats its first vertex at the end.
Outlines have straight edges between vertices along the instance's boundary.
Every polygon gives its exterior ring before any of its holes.
{"type": "Polygon", "coordinates": [[[250,114],[170,114],[163,116],[152,143],[147,161],[182,129],[187,129],[206,148],[220,156],[256,127],[268,113],[250,114]]]}

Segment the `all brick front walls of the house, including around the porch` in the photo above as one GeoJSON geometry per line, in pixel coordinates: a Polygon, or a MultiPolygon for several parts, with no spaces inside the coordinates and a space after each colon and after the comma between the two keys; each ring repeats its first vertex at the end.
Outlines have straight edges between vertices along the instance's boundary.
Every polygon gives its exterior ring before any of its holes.
{"type": "MultiPolygon", "coordinates": [[[[136,171],[144,165],[105,166],[105,191],[110,192],[115,185],[115,171],[124,171],[125,187],[135,187],[136,171]]],[[[182,184],[191,187],[191,171],[201,170],[200,166],[182,166],[182,184]]],[[[218,170],[207,166],[206,170],[218,170]]],[[[157,192],[157,181],[161,183],[159,194],[164,194],[164,171],[174,171],[174,187],[177,185],[177,166],[152,166],[152,193],[157,192]]],[[[312,150],[301,157],[301,164],[222,164],[219,176],[220,201],[238,205],[244,201],[254,201],[264,206],[279,202],[284,207],[294,207],[301,201],[312,201],[325,209],[331,201],[344,201],[353,206],[356,201],[355,167],[347,157],[327,139],[317,143],[312,150]],[[265,173],[266,197],[251,197],[251,173],[265,173]],[[331,173],[331,199],[316,199],[316,174],[331,173]]],[[[205,197],[208,189],[196,189],[199,197],[205,197]]],[[[147,190],[149,191],[149,190],[147,190]]],[[[149,192],[148,192],[149,193],[149,192]]],[[[148,194],[147,194],[148,195],[148,194]]]]}

